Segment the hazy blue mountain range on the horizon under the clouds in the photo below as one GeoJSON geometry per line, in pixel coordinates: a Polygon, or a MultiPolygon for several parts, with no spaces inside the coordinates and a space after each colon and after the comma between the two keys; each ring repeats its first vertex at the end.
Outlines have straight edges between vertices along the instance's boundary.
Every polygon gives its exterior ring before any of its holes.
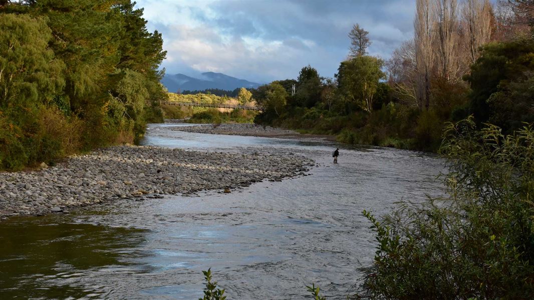
{"type": "Polygon", "coordinates": [[[235,88],[246,87],[256,88],[261,84],[249,82],[245,79],[239,79],[222,73],[205,72],[202,78],[193,78],[184,74],[165,74],[161,83],[172,93],[180,91],[203,91],[207,88],[219,88],[221,90],[233,91],[235,88]]]}

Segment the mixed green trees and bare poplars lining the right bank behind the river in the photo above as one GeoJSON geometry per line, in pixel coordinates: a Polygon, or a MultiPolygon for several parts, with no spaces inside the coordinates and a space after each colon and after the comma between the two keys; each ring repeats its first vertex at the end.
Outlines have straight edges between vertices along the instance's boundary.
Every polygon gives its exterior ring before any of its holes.
{"type": "Polygon", "coordinates": [[[356,24],[334,78],[306,66],[297,79],[253,90],[269,108],[257,121],[429,151],[439,148],[446,121],[469,115],[511,133],[534,121],[532,7],[528,0],[418,0],[414,38],[388,60],[368,55],[372,36],[356,24]]]}

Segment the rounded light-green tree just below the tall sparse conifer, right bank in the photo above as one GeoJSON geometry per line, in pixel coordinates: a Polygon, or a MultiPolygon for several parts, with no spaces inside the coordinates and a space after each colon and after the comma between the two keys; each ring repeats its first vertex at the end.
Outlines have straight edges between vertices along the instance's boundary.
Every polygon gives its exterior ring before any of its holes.
{"type": "Polygon", "coordinates": [[[382,72],[383,61],[373,56],[356,56],[341,63],[337,82],[341,95],[367,112],[372,112],[374,95],[382,72]]]}

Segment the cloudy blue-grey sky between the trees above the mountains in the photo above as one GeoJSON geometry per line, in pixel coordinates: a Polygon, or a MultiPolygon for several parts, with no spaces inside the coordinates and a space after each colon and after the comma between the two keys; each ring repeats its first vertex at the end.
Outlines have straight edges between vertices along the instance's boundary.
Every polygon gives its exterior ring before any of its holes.
{"type": "Polygon", "coordinates": [[[147,29],[163,36],[167,74],[212,71],[257,83],[296,78],[304,66],[333,77],[352,26],[369,31],[370,55],[388,59],[413,38],[413,0],[138,0],[147,29]]]}

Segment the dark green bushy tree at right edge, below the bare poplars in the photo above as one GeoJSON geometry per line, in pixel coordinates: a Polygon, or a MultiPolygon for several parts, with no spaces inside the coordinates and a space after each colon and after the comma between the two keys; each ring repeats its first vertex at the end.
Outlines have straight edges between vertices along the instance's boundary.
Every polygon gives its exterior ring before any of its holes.
{"type": "Polygon", "coordinates": [[[472,90],[470,111],[478,124],[491,120],[511,132],[521,121],[529,120],[528,109],[524,109],[534,104],[534,92],[529,88],[534,72],[534,40],[491,43],[481,53],[471,66],[471,74],[465,77],[472,90]]]}

